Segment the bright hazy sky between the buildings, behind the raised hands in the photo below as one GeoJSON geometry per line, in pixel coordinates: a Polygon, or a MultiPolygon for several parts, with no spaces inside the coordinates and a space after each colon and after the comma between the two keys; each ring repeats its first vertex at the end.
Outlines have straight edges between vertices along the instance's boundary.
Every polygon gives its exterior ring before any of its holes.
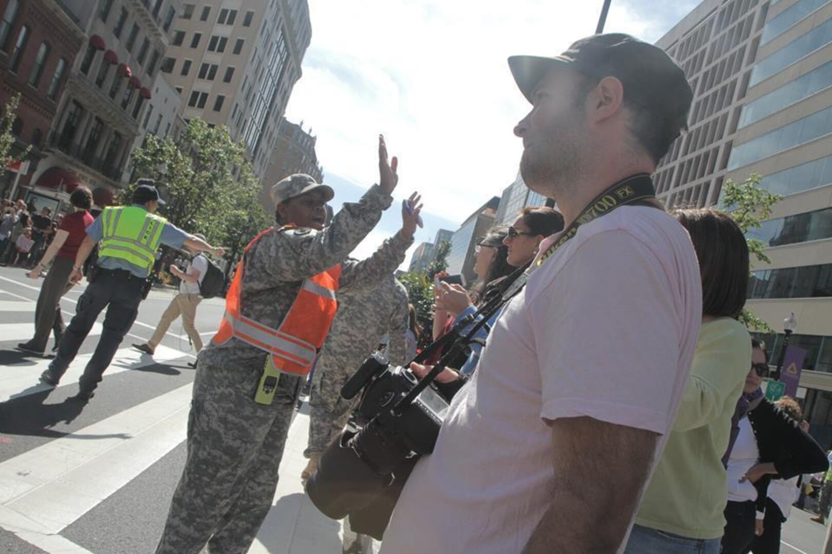
{"type": "MultiPolygon", "coordinates": [[[[513,126],[529,105],[506,58],[557,55],[595,31],[602,0],[309,0],[312,42],[286,116],[317,136],[324,181],[378,180],[376,140],[399,156],[404,198],[423,194],[426,226],[456,230],[502,194],[522,151],[513,126]]],[[[656,42],[699,2],[612,0],[607,32],[656,42]]],[[[347,198],[341,198],[344,200],[347,198]]],[[[356,249],[364,257],[400,225],[389,210],[356,249]]],[[[413,249],[411,249],[412,253],[413,249]]]]}

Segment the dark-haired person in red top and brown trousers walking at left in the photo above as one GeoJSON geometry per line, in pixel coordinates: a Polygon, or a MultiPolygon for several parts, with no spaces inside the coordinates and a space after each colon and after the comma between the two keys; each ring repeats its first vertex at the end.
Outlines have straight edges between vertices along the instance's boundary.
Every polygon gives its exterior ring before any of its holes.
{"type": "Polygon", "coordinates": [[[52,239],[41,261],[28,273],[28,277],[37,279],[54,259],[37,296],[35,336],[17,345],[18,349],[31,354],[43,355],[50,330],[55,335],[55,347],[52,350],[57,349],[66,329],[61,316],[61,297],[72,288],[69,276],[75,263],[75,255],[87,236],[87,227],[93,221],[89,213],[92,207],[92,192],[87,187],[78,187],[69,195],[69,202],[72,203],[74,211],[62,219],[61,226],[57,228],[55,238],[52,239]]]}

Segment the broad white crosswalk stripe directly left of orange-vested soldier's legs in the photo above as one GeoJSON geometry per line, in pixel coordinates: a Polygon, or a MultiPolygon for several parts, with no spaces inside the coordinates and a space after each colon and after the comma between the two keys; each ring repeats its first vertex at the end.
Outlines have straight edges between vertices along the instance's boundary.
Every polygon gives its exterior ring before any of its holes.
{"type": "Polygon", "coordinates": [[[0,463],[0,527],[57,534],[130,483],[186,438],[192,386],[0,463]]]}

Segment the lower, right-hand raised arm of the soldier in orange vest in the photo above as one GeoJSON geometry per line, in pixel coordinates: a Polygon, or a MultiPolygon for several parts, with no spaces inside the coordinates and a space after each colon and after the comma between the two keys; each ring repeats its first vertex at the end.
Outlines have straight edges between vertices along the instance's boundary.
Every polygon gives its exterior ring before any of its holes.
{"type": "Polygon", "coordinates": [[[410,195],[408,204],[402,207],[402,228],[382,243],[370,257],[360,262],[344,262],[341,266],[341,287],[373,286],[380,279],[394,272],[404,262],[404,256],[414,243],[422,199],[418,193],[410,195]]]}

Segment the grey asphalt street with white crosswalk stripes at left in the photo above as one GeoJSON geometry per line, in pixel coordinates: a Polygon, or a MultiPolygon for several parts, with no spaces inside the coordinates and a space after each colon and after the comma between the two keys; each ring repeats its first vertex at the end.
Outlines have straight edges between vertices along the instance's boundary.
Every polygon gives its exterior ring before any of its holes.
{"type": "MultiPolygon", "coordinates": [[[[0,552],[153,552],[185,460],[194,376],[186,363],[194,355],[181,321],[152,360],[130,344],[151,336],[173,292],[154,290],[141,304],[96,397],[81,406],[67,399],[77,393],[100,327],[56,390],[37,382],[48,360],[14,349],[31,336],[39,284],[20,268],[0,268],[0,552]]],[[[64,297],[67,321],[82,290],[64,297]]],[[[199,306],[196,326],[206,340],[222,311],[220,299],[199,306]]],[[[250,552],[340,552],[341,525],[317,512],[300,485],[305,408],[290,429],[274,507],[250,552]]],[[[809,517],[792,511],[780,552],[820,552],[824,528],[809,517]]]]}

